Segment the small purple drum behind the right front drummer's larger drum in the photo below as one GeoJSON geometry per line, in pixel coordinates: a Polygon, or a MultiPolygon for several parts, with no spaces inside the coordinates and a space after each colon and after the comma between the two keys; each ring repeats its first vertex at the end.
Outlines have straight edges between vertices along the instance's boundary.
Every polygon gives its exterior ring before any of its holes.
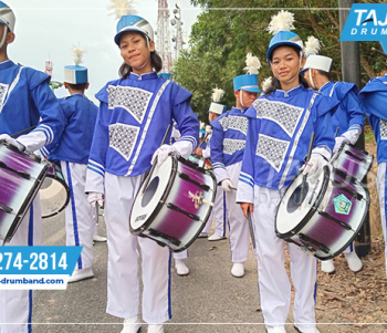
{"type": "Polygon", "coordinates": [[[353,145],[343,145],[333,156],[332,165],[335,169],[363,181],[373,165],[374,156],[359,150],[353,145]]]}

